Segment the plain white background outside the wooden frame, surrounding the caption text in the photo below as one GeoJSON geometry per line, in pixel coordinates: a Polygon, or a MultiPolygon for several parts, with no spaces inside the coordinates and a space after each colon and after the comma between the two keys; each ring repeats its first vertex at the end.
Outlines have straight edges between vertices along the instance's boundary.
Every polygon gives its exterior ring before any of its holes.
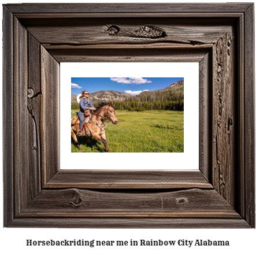
{"type": "MultiPolygon", "coordinates": [[[[6,1],[2,3],[17,3],[18,1],[6,1]]],[[[26,1],[29,2],[29,1],[26,1]]],[[[36,1],[31,1],[36,2],[36,1]]],[[[64,0],[54,2],[66,2],[64,0]]],[[[81,1],[76,1],[81,2],[81,1]]],[[[83,1],[84,2],[84,1],[83,1]]],[[[95,1],[90,1],[95,2],[95,1]]],[[[113,2],[113,1],[108,1],[113,2]]],[[[118,1],[121,2],[121,1],[118,1]]],[[[126,1],[129,2],[129,1],[126,1]]],[[[130,1],[135,2],[135,1],[130,1]]],[[[140,0],[139,2],[156,2],[150,0],[140,0]]],[[[161,2],[172,2],[164,1],[161,2]]],[[[179,1],[173,1],[179,2],[179,1]]],[[[196,1],[180,1],[180,2],[206,2],[196,1]]],[[[214,1],[210,2],[225,2],[214,1]]],[[[0,12],[2,15],[2,11],[0,12]]],[[[0,40],[2,43],[2,40],[0,40]]],[[[1,61],[2,62],[2,61],[1,61]]],[[[2,72],[2,68],[0,68],[2,72]]],[[[0,88],[0,92],[2,89],[0,88]]],[[[2,113],[2,94],[0,94],[0,109],[2,113]]],[[[2,129],[2,121],[1,121],[2,129]]],[[[0,141],[2,141],[2,135],[0,135],[0,141]]],[[[0,152],[1,164],[2,164],[2,152],[0,152]]],[[[0,189],[2,191],[2,173],[0,180],[0,189]]],[[[0,205],[2,203],[2,194],[0,194],[0,205]]],[[[2,226],[2,208],[0,213],[0,226],[2,226]]],[[[0,228],[0,250],[1,252],[74,252],[74,248],[71,247],[26,247],[25,240],[64,240],[64,239],[98,239],[98,240],[196,240],[196,239],[212,239],[212,240],[229,240],[229,247],[123,247],[122,252],[208,252],[221,253],[226,252],[254,252],[256,232],[255,229],[36,229],[36,228],[0,228]]],[[[117,247],[99,247],[99,248],[75,248],[75,252],[117,252],[120,253],[120,248],[117,247]]]]}

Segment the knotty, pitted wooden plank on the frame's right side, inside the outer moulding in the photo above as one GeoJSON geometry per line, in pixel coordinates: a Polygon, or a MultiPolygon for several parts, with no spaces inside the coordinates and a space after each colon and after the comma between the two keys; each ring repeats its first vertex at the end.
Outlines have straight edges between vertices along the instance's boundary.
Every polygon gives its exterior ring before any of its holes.
{"type": "Polygon", "coordinates": [[[233,33],[219,38],[213,47],[213,185],[225,199],[235,205],[238,165],[235,135],[236,83],[233,58],[233,33]]]}

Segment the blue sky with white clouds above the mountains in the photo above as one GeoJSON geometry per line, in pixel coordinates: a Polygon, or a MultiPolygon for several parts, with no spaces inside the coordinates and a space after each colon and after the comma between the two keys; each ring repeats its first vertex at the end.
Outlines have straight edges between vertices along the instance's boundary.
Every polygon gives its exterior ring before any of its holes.
{"type": "Polygon", "coordinates": [[[120,91],[138,95],[142,91],[155,91],[168,87],[183,77],[71,77],[71,93],[80,94],[87,90],[120,91]]]}

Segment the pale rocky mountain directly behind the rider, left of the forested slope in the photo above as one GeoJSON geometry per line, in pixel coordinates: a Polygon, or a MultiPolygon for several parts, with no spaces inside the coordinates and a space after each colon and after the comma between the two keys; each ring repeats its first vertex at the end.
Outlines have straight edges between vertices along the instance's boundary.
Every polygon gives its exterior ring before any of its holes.
{"type": "MultiPolygon", "coordinates": [[[[125,98],[130,98],[129,95],[124,92],[119,91],[96,91],[89,95],[92,103],[98,103],[100,101],[124,101],[125,98]]],[[[77,95],[71,94],[71,102],[76,102],[77,95]]]]}

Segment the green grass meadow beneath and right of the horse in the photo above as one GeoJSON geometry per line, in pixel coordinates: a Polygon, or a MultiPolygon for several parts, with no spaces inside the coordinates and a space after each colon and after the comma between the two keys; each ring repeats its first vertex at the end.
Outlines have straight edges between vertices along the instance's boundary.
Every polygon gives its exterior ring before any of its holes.
{"type": "MultiPolygon", "coordinates": [[[[71,117],[77,110],[71,111],[71,117]]],[[[106,139],[109,152],[184,152],[183,111],[116,110],[118,124],[109,122],[106,139]]],[[[105,123],[106,125],[106,123],[105,123]]],[[[103,152],[103,144],[87,137],[78,141],[84,152],[103,152]]],[[[71,152],[81,152],[71,144],[71,152]]]]}

